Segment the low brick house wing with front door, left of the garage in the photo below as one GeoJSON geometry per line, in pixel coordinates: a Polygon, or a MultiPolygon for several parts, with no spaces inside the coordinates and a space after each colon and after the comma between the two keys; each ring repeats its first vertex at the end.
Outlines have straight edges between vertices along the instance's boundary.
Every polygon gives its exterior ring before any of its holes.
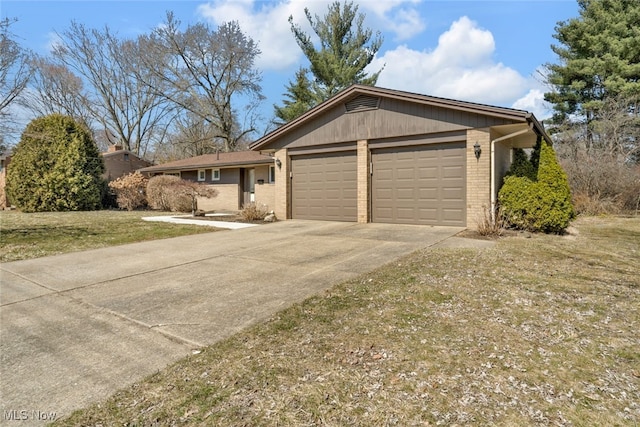
{"type": "Polygon", "coordinates": [[[237,211],[255,202],[272,210],[275,165],[273,157],[255,151],[205,154],[139,170],[149,177],[175,175],[214,187],[216,197],[198,200],[205,211],[237,211]]]}

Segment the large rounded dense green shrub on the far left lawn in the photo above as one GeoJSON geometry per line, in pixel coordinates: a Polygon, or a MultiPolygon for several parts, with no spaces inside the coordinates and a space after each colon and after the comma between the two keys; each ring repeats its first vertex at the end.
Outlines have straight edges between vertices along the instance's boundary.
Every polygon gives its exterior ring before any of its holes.
{"type": "Polygon", "coordinates": [[[102,207],[104,162],[87,128],[52,114],[31,121],[7,169],[9,199],[24,212],[102,207]]]}

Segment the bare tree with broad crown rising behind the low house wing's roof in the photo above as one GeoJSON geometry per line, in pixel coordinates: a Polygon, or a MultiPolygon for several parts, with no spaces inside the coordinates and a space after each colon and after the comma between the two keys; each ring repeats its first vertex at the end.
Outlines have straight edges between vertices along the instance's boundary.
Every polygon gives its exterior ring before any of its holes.
{"type": "MultiPolygon", "coordinates": [[[[262,76],[254,68],[254,60],[260,50],[237,22],[225,23],[217,30],[202,23],[189,25],[184,31],[179,26],[169,12],[164,25],[143,37],[147,54],[144,69],[155,71],[154,77],[169,87],[164,96],[210,124],[224,150],[233,151],[256,130],[255,106],[263,96],[262,76]],[[244,103],[241,111],[236,103],[244,103]],[[239,115],[243,115],[241,120],[239,115]]],[[[149,77],[142,76],[142,80],[149,77]]]]}

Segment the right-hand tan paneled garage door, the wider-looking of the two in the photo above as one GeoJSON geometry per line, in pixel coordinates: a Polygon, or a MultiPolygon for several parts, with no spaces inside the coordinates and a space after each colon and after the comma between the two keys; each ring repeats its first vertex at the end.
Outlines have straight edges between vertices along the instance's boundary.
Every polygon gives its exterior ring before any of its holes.
{"type": "Polygon", "coordinates": [[[465,148],[465,142],[372,146],[372,221],[465,226],[465,148]]]}

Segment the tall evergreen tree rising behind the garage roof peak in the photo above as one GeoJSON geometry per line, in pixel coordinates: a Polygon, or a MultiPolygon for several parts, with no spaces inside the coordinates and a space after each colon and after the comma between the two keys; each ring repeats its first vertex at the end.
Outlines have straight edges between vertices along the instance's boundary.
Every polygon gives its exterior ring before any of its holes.
{"type": "Polygon", "coordinates": [[[276,116],[284,122],[293,120],[352,84],[375,85],[382,71],[371,75],[364,71],[380,49],[382,36],[377,32],[374,37],[373,31],[363,28],[365,16],[358,13],[358,6],[353,2],[344,5],[334,2],[324,17],[316,15],[314,18],[306,8],[305,15],[320,39],[320,45],[316,47],[311,36],[293,22],[293,16],[289,17],[293,36],[309,60],[312,79],[306,76],[306,70],[301,69],[296,74],[296,82],[287,87],[289,92],[285,96],[290,100],[284,101],[283,107],[275,107],[276,116]],[[312,103],[308,104],[309,101],[312,103]]]}

